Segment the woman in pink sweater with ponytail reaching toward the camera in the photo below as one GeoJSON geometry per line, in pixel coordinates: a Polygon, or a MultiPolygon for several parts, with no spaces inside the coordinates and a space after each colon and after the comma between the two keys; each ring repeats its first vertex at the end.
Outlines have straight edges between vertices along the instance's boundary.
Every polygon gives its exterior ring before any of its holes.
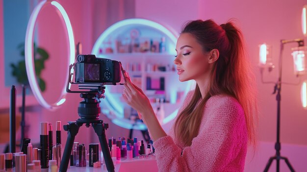
{"type": "Polygon", "coordinates": [[[137,110],[154,141],[161,172],[243,172],[255,145],[254,80],[240,30],[212,20],[185,25],[176,45],[179,80],[194,79],[169,135],[149,99],[127,79],[123,98],[137,110]]]}

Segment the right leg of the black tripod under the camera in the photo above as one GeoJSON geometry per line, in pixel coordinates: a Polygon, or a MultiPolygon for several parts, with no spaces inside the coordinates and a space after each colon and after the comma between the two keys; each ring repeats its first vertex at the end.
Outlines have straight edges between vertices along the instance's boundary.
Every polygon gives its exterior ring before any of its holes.
{"type": "Polygon", "coordinates": [[[111,158],[110,149],[108,148],[108,144],[105,137],[105,128],[103,123],[94,124],[93,123],[94,130],[96,134],[98,135],[99,142],[102,148],[103,158],[105,161],[105,166],[108,172],[115,172],[114,171],[114,164],[111,158]]]}

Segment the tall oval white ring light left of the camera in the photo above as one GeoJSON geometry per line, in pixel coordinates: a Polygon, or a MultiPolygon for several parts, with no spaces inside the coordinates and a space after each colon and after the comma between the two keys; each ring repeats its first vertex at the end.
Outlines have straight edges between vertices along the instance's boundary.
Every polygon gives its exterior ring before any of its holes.
{"type": "MultiPolygon", "coordinates": [[[[43,107],[53,110],[65,102],[66,84],[63,86],[61,97],[58,99],[58,101],[53,104],[49,104],[43,98],[42,93],[38,87],[36,75],[35,75],[35,69],[34,69],[34,56],[33,56],[33,37],[34,37],[33,33],[34,33],[35,22],[42,8],[50,4],[54,6],[55,9],[58,11],[57,14],[61,18],[62,22],[65,23],[65,26],[67,28],[66,37],[67,39],[69,39],[69,56],[70,56],[70,59],[68,59],[68,62],[70,64],[73,64],[75,62],[75,40],[74,40],[73,28],[72,28],[72,25],[70,23],[70,20],[68,18],[66,11],[56,1],[43,0],[34,8],[30,16],[27,28],[26,28],[25,56],[26,56],[26,74],[28,76],[29,84],[30,84],[30,87],[33,91],[35,98],[38,100],[38,102],[43,107]]],[[[67,81],[68,80],[68,69],[65,74],[67,74],[66,79],[65,79],[65,81],[67,81]]]]}

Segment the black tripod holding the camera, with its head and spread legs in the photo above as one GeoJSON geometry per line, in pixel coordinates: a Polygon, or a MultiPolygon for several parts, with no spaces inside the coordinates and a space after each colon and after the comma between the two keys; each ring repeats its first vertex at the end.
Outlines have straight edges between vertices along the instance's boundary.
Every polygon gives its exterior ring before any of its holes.
{"type": "Polygon", "coordinates": [[[67,171],[70,154],[74,145],[74,140],[79,131],[80,126],[82,126],[83,123],[85,123],[86,127],[89,127],[90,124],[92,124],[96,134],[98,135],[99,142],[102,147],[106,169],[108,172],[114,172],[114,165],[105,136],[105,130],[108,128],[108,124],[103,123],[102,120],[99,120],[99,98],[102,98],[104,89],[105,87],[103,86],[100,87],[99,90],[93,90],[80,94],[80,97],[84,98],[84,100],[79,103],[78,107],[78,114],[80,118],[76,122],[69,122],[67,125],[64,125],[64,130],[68,131],[68,135],[59,172],[67,171]]]}

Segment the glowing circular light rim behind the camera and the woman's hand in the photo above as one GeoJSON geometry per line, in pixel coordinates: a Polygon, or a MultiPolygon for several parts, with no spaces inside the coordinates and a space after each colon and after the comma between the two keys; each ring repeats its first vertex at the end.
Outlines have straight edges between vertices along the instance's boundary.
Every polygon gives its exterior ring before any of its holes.
{"type": "MultiPolygon", "coordinates": [[[[122,27],[127,27],[127,26],[133,26],[133,25],[134,26],[135,25],[148,26],[148,27],[151,27],[155,30],[162,32],[171,41],[172,46],[170,46],[170,49],[173,49],[173,50],[176,49],[176,43],[177,43],[177,39],[178,39],[179,36],[174,34],[173,32],[171,32],[169,29],[167,29],[163,25],[160,25],[156,22],[146,20],[146,19],[126,19],[126,20],[117,22],[114,25],[111,25],[100,35],[100,37],[97,39],[97,41],[96,41],[96,43],[93,47],[92,54],[95,54],[95,55],[99,54],[100,45],[102,45],[103,41],[105,41],[108,38],[109,35],[116,32],[117,29],[120,29],[122,27]]],[[[105,55],[105,57],[104,56],[102,56],[102,57],[107,58],[107,54],[105,55]]],[[[193,85],[193,81],[188,81],[187,87],[184,90],[185,95],[190,91],[190,88],[191,88],[192,85],[193,85]]],[[[106,101],[106,103],[104,103],[104,104],[108,107],[108,109],[110,111],[114,112],[114,115],[116,115],[118,117],[118,118],[111,119],[111,121],[113,123],[115,123],[119,126],[122,126],[124,128],[128,128],[128,129],[132,128],[132,129],[144,130],[144,129],[147,128],[147,126],[144,123],[139,123],[138,125],[135,125],[134,123],[129,123],[127,121],[121,121],[120,119],[124,118],[124,110],[122,108],[124,106],[124,104],[121,103],[120,101],[118,101],[117,98],[114,98],[110,94],[108,89],[105,89],[104,94],[107,95],[105,97],[105,100],[104,100],[104,101],[106,101]]],[[[108,114],[109,112],[105,111],[103,113],[108,114]]],[[[173,119],[175,119],[175,117],[177,116],[177,113],[178,113],[178,109],[176,109],[170,115],[166,116],[161,124],[168,123],[168,122],[172,121],[173,119]]]]}

